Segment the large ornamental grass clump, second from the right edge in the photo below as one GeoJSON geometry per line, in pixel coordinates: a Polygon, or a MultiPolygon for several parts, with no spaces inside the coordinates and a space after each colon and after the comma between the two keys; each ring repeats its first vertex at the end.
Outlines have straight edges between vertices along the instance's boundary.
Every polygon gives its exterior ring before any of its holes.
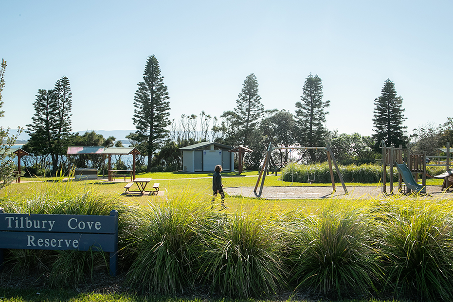
{"type": "Polygon", "coordinates": [[[313,293],[342,297],[374,290],[380,268],[376,227],[366,208],[330,201],[316,213],[293,218],[291,281],[313,293]]]}

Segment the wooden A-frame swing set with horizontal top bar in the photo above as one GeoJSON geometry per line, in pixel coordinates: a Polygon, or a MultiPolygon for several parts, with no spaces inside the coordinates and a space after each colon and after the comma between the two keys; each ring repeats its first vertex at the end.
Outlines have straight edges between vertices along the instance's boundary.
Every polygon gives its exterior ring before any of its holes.
{"type": "Polygon", "coordinates": [[[266,157],[264,159],[264,163],[263,163],[263,166],[261,168],[261,171],[259,173],[259,176],[258,176],[258,180],[256,180],[256,185],[255,185],[255,188],[254,188],[254,194],[256,196],[261,196],[261,193],[263,193],[263,187],[264,187],[264,179],[266,178],[266,174],[268,172],[268,169],[269,169],[269,161],[271,159],[271,153],[272,153],[272,150],[280,150],[280,149],[302,149],[302,150],[326,150],[327,152],[327,161],[329,163],[329,170],[330,170],[330,180],[332,181],[332,194],[335,192],[335,179],[333,177],[333,170],[332,170],[332,162],[335,166],[335,170],[337,171],[337,175],[338,175],[338,178],[340,178],[340,182],[343,186],[343,190],[344,190],[344,194],[348,194],[347,193],[347,189],[346,189],[346,185],[344,184],[344,180],[343,180],[343,176],[341,175],[340,173],[340,169],[338,168],[338,165],[337,165],[337,161],[335,160],[335,157],[333,156],[333,152],[332,150],[330,149],[330,145],[327,144],[326,147],[272,147],[272,142],[269,143],[269,147],[268,147],[268,151],[266,153],[266,157]],[[259,181],[261,180],[261,177],[263,177],[262,181],[261,181],[261,186],[260,186],[260,189],[259,189],[259,194],[256,193],[256,190],[258,189],[258,184],[259,184],[259,181]]]}

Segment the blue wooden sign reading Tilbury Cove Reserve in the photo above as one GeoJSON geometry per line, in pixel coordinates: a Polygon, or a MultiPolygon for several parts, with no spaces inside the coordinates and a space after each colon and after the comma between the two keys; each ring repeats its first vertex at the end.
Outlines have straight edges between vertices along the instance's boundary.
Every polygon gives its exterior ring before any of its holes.
{"type": "Polygon", "coordinates": [[[0,268],[3,249],[110,252],[110,274],[118,262],[118,212],[109,216],[3,213],[0,208],[0,268]]]}

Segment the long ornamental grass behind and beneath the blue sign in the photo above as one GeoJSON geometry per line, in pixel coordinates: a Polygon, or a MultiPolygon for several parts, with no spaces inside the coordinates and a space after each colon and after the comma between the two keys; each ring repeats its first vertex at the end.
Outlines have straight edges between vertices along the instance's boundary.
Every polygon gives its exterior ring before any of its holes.
{"type": "MultiPolygon", "coordinates": [[[[109,215],[111,210],[117,210],[120,256],[130,253],[127,246],[134,233],[134,209],[115,196],[102,194],[92,185],[80,187],[61,179],[30,190],[32,193],[27,195],[5,195],[0,206],[5,213],[30,214],[109,215]]],[[[85,282],[101,260],[104,271],[109,271],[109,256],[101,252],[11,249],[5,258],[13,272],[50,271],[55,286],[85,282]],[[84,264],[78,266],[71,259],[83,259],[84,264]]]]}

